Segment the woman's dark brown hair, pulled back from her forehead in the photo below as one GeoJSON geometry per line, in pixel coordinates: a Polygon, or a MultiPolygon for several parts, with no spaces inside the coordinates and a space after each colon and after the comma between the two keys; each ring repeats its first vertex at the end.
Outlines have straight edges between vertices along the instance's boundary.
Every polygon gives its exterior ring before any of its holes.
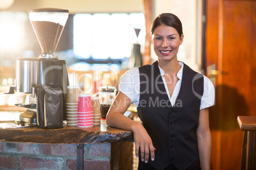
{"type": "Polygon", "coordinates": [[[150,29],[151,35],[155,31],[155,29],[157,27],[159,27],[160,25],[167,25],[167,26],[173,27],[174,29],[177,30],[180,37],[183,34],[182,24],[181,24],[180,19],[172,13],[162,13],[159,16],[157,16],[157,18],[155,18],[155,20],[153,20],[151,29],[150,29]]]}

